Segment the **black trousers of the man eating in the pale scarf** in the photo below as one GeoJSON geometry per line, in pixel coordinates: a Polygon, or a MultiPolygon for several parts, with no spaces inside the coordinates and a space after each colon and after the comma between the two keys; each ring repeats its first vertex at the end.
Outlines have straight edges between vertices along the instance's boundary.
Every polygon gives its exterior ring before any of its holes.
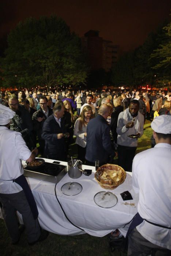
{"type": "Polygon", "coordinates": [[[135,156],[136,147],[118,145],[118,165],[126,172],[132,172],[132,161],[135,156]]]}

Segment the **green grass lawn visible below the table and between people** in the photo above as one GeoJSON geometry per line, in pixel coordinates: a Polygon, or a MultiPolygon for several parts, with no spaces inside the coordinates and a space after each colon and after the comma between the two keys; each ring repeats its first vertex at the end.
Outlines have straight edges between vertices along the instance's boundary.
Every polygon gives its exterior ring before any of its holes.
{"type": "MultiPolygon", "coordinates": [[[[144,135],[138,139],[136,154],[151,148],[152,129],[150,121],[146,120],[144,135]]],[[[69,154],[77,157],[77,147],[72,144],[69,154]]],[[[107,218],[107,216],[106,216],[107,218]]],[[[49,237],[33,246],[27,244],[25,234],[22,234],[18,245],[11,245],[5,224],[0,219],[0,256],[126,256],[126,253],[109,252],[108,237],[92,237],[88,234],[80,236],[60,236],[50,233],[49,237]]]]}

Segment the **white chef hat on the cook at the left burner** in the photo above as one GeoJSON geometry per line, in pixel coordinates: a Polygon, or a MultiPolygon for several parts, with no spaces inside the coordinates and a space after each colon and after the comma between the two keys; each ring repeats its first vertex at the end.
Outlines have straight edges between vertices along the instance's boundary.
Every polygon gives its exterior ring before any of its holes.
{"type": "Polygon", "coordinates": [[[0,104],[0,125],[9,124],[10,119],[13,118],[14,115],[15,115],[14,111],[0,104]]]}

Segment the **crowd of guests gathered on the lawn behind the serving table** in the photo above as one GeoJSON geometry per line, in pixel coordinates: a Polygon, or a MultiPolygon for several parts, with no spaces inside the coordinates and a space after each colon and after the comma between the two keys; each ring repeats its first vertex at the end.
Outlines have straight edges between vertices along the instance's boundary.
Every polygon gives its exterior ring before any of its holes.
{"type": "Polygon", "coordinates": [[[10,129],[22,133],[30,150],[38,142],[42,157],[66,161],[71,157],[68,150],[75,135],[78,158],[83,163],[94,165],[100,159],[102,165],[112,163],[114,156],[118,156],[118,164],[126,171],[132,170],[137,138],[143,134],[145,119],[170,114],[171,109],[171,92],[160,90],[55,90],[48,94],[40,90],[13,94],[5,91],[0,93],[0,100],[15,112],[10,129]],[[107,131],[100,130],[97,136],[99,116],[105,120],[107,131]],[[94,118],[95,121],[91,120],[94,118]]]}

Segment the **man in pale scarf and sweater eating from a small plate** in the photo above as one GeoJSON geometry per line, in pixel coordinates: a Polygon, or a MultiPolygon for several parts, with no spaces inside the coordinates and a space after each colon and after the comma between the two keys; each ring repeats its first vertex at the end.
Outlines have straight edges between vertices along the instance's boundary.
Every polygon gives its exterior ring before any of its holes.
{"type": "Polygon", "coordinates": [[[132,172],[132,161],[137,149],[138,138],[144,132],[144,116],[138,112],[139,106],[139,102],[133,99],[129,108],[118,116],[118,165],[127,172],[132,172]],[[129,135],[137,136],[130,138],[129,135]]]}

